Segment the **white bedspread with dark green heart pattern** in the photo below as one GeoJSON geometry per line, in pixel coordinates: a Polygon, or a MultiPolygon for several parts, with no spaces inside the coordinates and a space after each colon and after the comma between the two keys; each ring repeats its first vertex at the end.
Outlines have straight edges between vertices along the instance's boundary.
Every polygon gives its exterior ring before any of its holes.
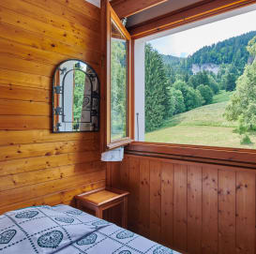
{"type": "Polygon", "coordinates": [[[0,216],[0,254],[178,254],[68,205],[33,206],[0,216]]]}

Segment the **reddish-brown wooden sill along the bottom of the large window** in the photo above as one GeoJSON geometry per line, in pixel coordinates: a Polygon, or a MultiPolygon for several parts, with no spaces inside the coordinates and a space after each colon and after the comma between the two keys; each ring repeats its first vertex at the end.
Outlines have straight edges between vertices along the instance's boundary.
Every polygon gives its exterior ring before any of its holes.
{"type": "Polygon", "coordinates": [[[126,154],[256,169],[256,150],[158,142],[131,142],[126,154]]]}

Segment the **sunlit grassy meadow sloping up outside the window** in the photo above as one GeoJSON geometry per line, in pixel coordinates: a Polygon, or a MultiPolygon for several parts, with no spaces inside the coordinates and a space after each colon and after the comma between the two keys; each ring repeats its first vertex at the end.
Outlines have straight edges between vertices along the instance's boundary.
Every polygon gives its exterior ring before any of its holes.
{"type": "Polygon", "coordinates": [[[256,132],[250,133],[252,144],[241,144],[240,135],[233,131],[237,123],[223,117],[231,96],[231,92],[220,91],[213,104],[176,114],[163,127],[146,133],[145,141],[256,149],[256,132]]]}

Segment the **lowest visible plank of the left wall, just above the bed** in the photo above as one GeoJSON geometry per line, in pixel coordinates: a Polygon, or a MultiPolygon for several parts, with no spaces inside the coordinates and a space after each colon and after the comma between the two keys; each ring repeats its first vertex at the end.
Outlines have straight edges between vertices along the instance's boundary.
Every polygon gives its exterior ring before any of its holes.
{"type": "Polygon", "coordinates": [[[105,181],[98,181],[91,184],[83,185],[81,187],[70,188],[61,192],[55,192],[50,195],[41,196],[32,200],[25,200],[23,202],[13,203],[0,208],[0,215],[24,207],[35,205],[56,205],[59,203],[70,202],[75,195],[81,194],[86,191],[91,191],[99,187],[105,187],[105,181]]]}

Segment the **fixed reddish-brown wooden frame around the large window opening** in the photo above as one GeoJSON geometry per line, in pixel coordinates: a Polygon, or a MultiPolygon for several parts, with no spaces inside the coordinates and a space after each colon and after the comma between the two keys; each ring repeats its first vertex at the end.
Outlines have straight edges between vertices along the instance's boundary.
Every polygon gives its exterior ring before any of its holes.
{"type": "MultiPolygon", "coordinates": [[[[197,7],[194,9],[183,8],[182,11],[176,11],[174,18],[168,18],[167,21],[171,23],[159,22],[159,27],[151,28],[149,31],[140,30],[140,34],[136,34],[133,30],[132,37],[132,52],[134,53],[134,40],[136,38],[147,37],[149,34],[156,34],[159,31],[172,29],[177,26],[187,24],[189,22],[196,22],[218,14],[232,11],[239,7],[247,7],[251,4],[256,4],[255,0],[224,0],[223,6],[219,6],[219,0],[207,1],[203,3],[206,7],[212,7],[213,9],[205,10],[203,7],[197,7]],[[215,2],[218,2],[218,8],[215,6],[215,2]],[[186,15],[187,13],[187,15],[186,15]],[[190,15],[190,16],[189,16],[190,15]],[[183,18],[186,17],[186,18],[183,18]],[[179,21],[179,22],[176,22],[179,21]]],[[[204,6],[205,7],[205,6],[204,6]]],[[[134,60],[134,57],[133,57],[134,60]]],[[[132,84],[134,86],[134,62],[132,63],[132,84]]],[[[132,107],[134,108],[134,95],[132,101],[132,107]]],[[[133,110],[133,125],[132,131],[134,133],[134,110],[133,110]]],[[[229,147],[217,147],[217,146],[205,146],[205,145],[189,145],[189,144],[175,144],[164,142],[131,142],[126,147],[127,154],[133,154],[144,157],[167,157],[175,158],[179,160],[192,160],[197,162],[207,162],[212,164],[221,165],[233,165],[245,168],[256,168],[256,149],[244,149],[244,148],[229,148],[229,147]]]]}

